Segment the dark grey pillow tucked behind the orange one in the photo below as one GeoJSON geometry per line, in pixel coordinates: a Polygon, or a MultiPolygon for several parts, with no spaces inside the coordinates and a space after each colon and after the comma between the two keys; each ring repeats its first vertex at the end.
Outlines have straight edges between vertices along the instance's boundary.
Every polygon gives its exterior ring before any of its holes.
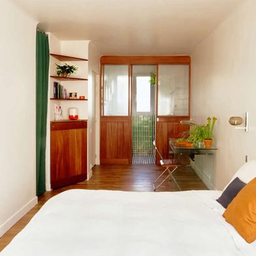
{"type": "Polygon", "coordinates": [[[236,197],[236,195],[245,185],[246,184],[244,182],[236,177],[223,191],[222,195],[219,197],[219,199],[217,199],[217,202],[219,202],[224,208],[227,208],[234,197],[236,197]]]}

